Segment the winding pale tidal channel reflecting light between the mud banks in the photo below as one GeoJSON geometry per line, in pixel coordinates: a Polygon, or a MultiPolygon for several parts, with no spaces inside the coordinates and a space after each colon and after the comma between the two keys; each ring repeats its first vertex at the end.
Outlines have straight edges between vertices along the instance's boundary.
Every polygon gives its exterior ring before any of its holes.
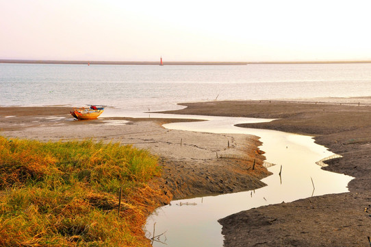
{"type": "Polygon", "coordinates": [[[263,145],[260,149],[266,152],[266,161],[277,164],[268,168],[273,175],[262,180],[268,186],[255,191],[175,200],[160,207],[147,219],[145,226],[147,237],[153,236],[154,224],[155,236],[160,235],[153,246],[222,246],[222,226],[217,222],[222,217],[267,204],[348,191],[347,185],[353,177],[320,169],[316,162],[334,154],[314,143],[311,137],[233,126],[260,119],[206,118],[209,121],[165,124],[164,127],[261,137],[263,145]],[[278,175],[280,170],[281,177],[278,175]]]}

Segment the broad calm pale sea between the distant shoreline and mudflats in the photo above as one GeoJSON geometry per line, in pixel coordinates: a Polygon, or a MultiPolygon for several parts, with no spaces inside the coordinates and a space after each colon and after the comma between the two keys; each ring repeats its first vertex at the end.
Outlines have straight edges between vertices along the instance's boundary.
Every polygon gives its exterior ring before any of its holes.
{"type": "Polygon", "coordinates": [[[0,106],[105,104],[142,111],[175,108],[178,102],[370,92],[371,64],[0,64],[0,106]]]}

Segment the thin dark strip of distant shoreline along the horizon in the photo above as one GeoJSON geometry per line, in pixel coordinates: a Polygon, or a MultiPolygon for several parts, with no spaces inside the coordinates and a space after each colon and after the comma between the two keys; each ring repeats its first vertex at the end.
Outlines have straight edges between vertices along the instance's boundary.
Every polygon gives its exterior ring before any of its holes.
{"type": "MultiPolygon", "coordinates": [[[[89,60],[16,60],[0,59],[0,63],[22,64],[101,64],[101,65],[159,65],[159,62],[136,61],[89,61],[89,60]]],[[[371,63],[371,60],[362,61],[298,61],[298,62],[164,62],[164,65],[248,65],[248,64],[350,64],[371,63]]]]}

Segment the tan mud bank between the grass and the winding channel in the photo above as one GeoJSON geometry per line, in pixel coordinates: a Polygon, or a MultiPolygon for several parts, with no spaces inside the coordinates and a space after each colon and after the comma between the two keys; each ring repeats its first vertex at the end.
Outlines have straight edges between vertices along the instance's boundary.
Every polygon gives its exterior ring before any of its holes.
{"type": "Polygon", "coordinates": [[[261,166],[265,158],[254,136],[166,130],[161,126],[192,121],[190,119],[102,117],[75,121],[69,110],[71,108],[0,107],[0,134],[40,141],[92,138],[150,150],[159,156],[163,167],[162,177],[156,178],[157,184],[173,199],[257,189],[265,186],[260,179],[270,174],[261,166]],[[220,158],[220,154],[249,158],[220,158]]]}

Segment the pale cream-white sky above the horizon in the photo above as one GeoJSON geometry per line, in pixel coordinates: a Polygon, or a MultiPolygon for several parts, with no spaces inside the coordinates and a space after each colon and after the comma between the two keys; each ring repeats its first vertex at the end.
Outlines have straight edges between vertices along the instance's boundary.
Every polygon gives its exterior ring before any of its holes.
{"type": "Polygon", "coordinates": [[[371,60],[370,25],[370,0],[0,0],[0,58],[371,60]]]}

